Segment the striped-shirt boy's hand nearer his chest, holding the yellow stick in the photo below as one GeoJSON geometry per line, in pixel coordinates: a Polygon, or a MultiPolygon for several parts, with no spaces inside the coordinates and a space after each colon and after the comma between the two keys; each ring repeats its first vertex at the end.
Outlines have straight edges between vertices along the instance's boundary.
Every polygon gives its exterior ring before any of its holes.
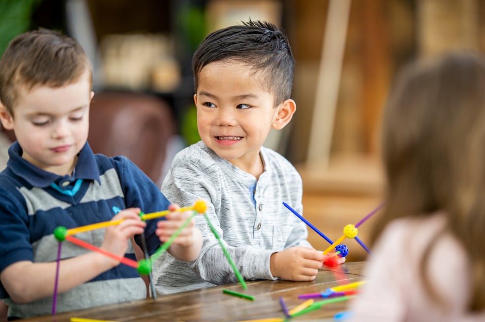
{"type": "MultiPolygon", "coordinates": [[[[111,221],[122,219],[118,225],[106,227],[104,240],[101,249],[118,256],[124,256],[128,248],[128,240],[134,235],[143,233],[146,222],[140,216],[139,208],[128,208],[122,210],[115,215],[111,221]]],[[[113,266],[117,266],[120,262],[113,260],[113,266]]]]}

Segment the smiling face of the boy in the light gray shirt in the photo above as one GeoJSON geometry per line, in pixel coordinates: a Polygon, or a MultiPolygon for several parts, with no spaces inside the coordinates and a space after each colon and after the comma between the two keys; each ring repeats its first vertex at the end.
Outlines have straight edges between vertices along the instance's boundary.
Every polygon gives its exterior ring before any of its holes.
{"type": "Polygon", "coordinates": [[[249,173],[262,164],[259,151],[271,128],[284,127],[294,112],[293,108],[289,119],[280,124],[287,102],[274,107],[274,95],[262,88],[261,81],[261,75],[245,64],[215,61],[200,71],[194,95],[204,143],[249,173]]]}

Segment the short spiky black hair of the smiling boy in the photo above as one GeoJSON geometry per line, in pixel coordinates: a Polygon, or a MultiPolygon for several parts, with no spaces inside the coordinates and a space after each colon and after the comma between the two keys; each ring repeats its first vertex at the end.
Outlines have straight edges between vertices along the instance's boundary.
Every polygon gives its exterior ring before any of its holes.
{"type": "Polygon", "coordinates": [[[239,61],[262,72],[262,85],[274,94],[275,106],[290,98],[295,59],[285,32],[273,24],[249,20],[208,35],[192,57],[196,92],[200,71],[220,60],[239,61]]]}

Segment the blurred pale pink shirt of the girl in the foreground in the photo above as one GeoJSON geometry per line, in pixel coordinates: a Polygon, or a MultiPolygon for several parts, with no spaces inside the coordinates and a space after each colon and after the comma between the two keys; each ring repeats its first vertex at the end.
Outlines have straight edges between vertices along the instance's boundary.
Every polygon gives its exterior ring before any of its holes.
{"type": "Polygon", "coordinates": [[[350,303],[352,322],[485,321],[485,312],[466,312],[468,260],[455,237],[440,234],[445,220],[440,214],[399,219],[385,229],[364,270],[367,283],[350,303]],[[425,254],[430,256],[427,273],[437,294],[446,301],[445,308],[429,298],[420,278],[419,259],[433,238],[436,243],[425,254]]]}

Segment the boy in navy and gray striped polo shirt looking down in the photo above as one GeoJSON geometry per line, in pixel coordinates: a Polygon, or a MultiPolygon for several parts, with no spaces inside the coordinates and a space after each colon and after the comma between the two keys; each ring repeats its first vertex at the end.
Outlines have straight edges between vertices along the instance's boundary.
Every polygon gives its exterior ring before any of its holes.
{"type": "MultiPolygon", "coordinates": [[[[122,219],[76,237],[134,260],[134,235],[144,232],[152,254],[190,215],[141,220],[140,210],[160,211],[170,203],[125,157],[92,153],[87,143],[91,85],[83,49],[55,31],[18,36],[0,60],[0,120],[17,138],[0,173],[0,296],[9,318],[51,312],[56,227],[122,219]]],[[[168,251],[191,261],[200,249],[200,231],[192,223],[168,251]]],[[[136,269],[70,242],[61,250],[58,312],[146,297],[136,269]]]]}

